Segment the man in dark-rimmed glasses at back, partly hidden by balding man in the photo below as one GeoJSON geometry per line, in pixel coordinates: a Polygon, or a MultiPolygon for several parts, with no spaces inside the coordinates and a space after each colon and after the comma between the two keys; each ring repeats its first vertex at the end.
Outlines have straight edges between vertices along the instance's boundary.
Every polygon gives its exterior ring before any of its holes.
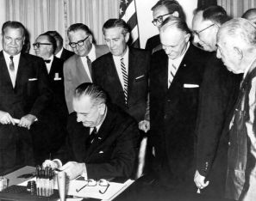
{"type": "MultiPolygon", "coordinates": [[[[185,21],[184,10],[176,0],[159,0],[151,9],[153,11],[153,25],[160,27],[163,21],[170,15],[179,17],[185,21]]],[[[146,50],[156,52],[162,48],[159,34],[147,40],[146,50]]]]}

